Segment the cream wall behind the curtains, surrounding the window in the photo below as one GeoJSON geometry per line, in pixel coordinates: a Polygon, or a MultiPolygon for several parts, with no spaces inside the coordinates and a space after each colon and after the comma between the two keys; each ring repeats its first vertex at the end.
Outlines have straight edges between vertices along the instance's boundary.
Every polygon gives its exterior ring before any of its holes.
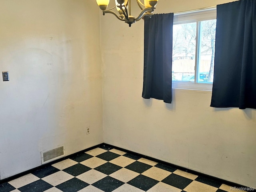
{"type": "MultiPolygon", "coordinates": [[[[159,0],[156,13],[226,2],[159,0]]],[[[144,22],[100,19],[104,142],[256,188],[256,110],[211,108],[210,91],[173,89],[172,104],[144,100],[144,22]]]]}

